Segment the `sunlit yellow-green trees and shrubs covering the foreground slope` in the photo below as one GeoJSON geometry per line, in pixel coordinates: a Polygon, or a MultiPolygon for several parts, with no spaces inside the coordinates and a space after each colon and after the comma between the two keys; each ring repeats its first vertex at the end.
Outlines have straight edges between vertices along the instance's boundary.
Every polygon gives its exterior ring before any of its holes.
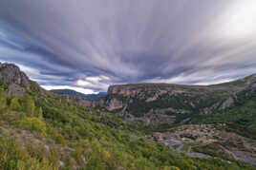
{"type": "MultiPolygon", "coordinates": [[[[44,154],[37,146],[21,147],[0,132],[0,169],[253,169],[240,162],[191,159],[152,142],[136,125],[117,116],[76,105],[46,92],[8,96],[0,89],[0,119],[70,149],[44,154]],[[36,99],[32,95],[36,95],[36,99]]],[[[39,147],[39,146],[38,146],[39,147]]]]}

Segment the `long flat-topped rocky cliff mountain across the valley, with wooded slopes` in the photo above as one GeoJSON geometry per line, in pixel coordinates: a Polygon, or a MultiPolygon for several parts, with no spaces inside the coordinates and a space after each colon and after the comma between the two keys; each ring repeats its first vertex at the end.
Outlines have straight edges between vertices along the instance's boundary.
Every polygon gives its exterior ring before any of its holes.
{"type": "Polygon", "coordinates": [[[256,75],[220,85],[112,85],[99,106],[130,121],[170,125],[232,107],[238,93],[255,87],[256,75]]]}

